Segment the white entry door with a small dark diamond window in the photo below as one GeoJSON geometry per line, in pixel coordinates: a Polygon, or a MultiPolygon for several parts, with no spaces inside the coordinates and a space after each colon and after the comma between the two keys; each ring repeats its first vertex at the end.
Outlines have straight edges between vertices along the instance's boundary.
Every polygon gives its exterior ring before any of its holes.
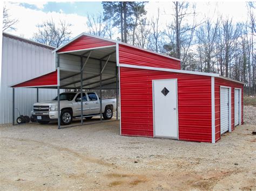
{"type": "Polygon", "coordinates": [[[154,136],[178,139],[177,80],[153,81],[154,136]]]}

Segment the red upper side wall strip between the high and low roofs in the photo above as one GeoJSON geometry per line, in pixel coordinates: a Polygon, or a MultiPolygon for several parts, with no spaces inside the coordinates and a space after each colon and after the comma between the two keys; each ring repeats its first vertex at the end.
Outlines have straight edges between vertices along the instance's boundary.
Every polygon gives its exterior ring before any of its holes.
{"type": "Polygon", "coordinates": [[[141,49],[119,45],[119,63],[137,66],[180,69],[180,61],[141,49]]]}

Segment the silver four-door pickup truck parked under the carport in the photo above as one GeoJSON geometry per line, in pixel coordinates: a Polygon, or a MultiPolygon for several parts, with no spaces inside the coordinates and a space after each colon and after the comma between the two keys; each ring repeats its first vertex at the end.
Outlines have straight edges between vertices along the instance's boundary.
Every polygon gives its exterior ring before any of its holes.
{"type": "MultiPolygon", "coordinates": [[[[113,111],[116,111],[116,99],[102,100],[102,114],[104,119],[111,119],[113,111]]],[[[60,122],[69,125],[73,118],[81,116],[81,94],[60,94],[60,122]]],[[[58,97],[52,101],[33,104],[31,115],[40,124],[48,124],[50,121],[58,120],[58,97]]],[[[83,117],[91,119],[100,115],[100,99],[96,93],[83,93],[83,117]]]]}

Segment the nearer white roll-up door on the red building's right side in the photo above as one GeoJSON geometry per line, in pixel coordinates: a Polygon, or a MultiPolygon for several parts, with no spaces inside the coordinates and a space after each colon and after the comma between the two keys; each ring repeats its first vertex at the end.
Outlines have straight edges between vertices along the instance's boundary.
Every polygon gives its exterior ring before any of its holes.
{"type": "Polygon", "coordinates": [[[220,134],[228,131],[229,126],[229,89],[220,88],[220,134]]]}

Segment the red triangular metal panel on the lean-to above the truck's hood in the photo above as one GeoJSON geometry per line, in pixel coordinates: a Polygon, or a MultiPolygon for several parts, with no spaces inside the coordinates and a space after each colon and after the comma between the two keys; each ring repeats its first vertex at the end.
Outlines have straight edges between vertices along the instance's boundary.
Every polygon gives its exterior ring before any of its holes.
{"type": "Polygon", "coordinates": [[[17,87],[31,87],[31,86],[54,86],[58,84],[57,80],[57,70],[55,72],[42,75],[40,77],[36,77],[32,80],[28,80],[26,82],[19,83],[15,86],[12,86],[13,88],[17,87]]]}

